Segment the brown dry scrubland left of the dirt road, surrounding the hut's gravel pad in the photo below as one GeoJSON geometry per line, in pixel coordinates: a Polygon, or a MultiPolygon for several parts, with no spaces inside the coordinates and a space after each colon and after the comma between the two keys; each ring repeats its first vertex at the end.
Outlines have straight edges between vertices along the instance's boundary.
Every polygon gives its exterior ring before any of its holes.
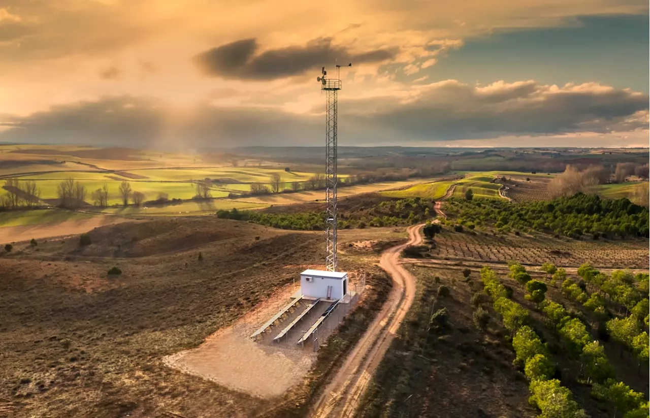
{"type": "MultiPolygon", "coordinates": [[[[322,346],[304,384],[272,400],[163,364],[200,345],[322,261],[321,233],[165,218],[14,245],[0,262],[0,411],[12,417],[299,417],[387,296],[372,260],[400,229],[343,234],[346,269],[370,273],[361,305],[322,346]],[[372,242],[367,246],[367,242],[372,242]],[[358,248],[357,248],[358,247],[358,248]],[[201,254],[201,260],[198,259],[201,254]],[[122,270],[109,276],[111,267],[122,270]]],[[[401,233],[400,233],[401,232],[401,233]]]]}

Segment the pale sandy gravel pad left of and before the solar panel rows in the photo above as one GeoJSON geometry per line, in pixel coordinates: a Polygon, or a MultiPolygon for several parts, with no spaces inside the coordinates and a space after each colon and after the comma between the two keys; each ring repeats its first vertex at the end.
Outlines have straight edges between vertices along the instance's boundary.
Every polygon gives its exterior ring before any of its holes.
{"type": "MultiPolygon", "coordinates": [[[[316,353],[306,346],[259,343],[249,337],[289,301],[294,289],[287,287],[233,326],[208,337],[198,348],[172,354],[164,358],[164,363],[256,397],[282,395],[302,383],[316,353]]],[[[277,330],[278,326],[272,333],[277,330]]]]}

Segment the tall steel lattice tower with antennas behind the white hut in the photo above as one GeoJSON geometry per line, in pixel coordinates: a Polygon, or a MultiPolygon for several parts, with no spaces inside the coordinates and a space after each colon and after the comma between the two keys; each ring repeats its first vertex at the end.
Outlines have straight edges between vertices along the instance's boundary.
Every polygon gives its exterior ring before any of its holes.
{"type": "MultiPolygon", "coordinates": [[[[352,66],[350,64],[349,66],[352,66]]],[[[337,66],[339,70],[341,66],[337,66]]],[[[318,77],[321,90],[327,94],[326,116],[325,116],[325,202],[327,205],[325,218],[325,234],[327,241],[327,256],[325,265],[327,270],[337,271],[337,146],[338,146],[338,92],[341,90],[341,79],[328,79],[325,68],[322,69],[322,77],[318,77]]]]}

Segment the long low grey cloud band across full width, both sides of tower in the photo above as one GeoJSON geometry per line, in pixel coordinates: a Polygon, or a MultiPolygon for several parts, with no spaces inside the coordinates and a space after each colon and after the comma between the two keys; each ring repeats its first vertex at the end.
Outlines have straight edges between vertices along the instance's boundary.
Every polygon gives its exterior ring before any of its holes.
{"type": "MultiPolygon", "coordinates": [[[[408,102],[385,97],[339,101],[341,144],[609,133],[650,129],[650,96],[599,85],[534,81],[477,87],[458,81],[426,86],[408,102]]],[[[322,111],[318,106],[318,111],[322,111]]],[[[274,107],[178,111],[157,99],[116,97],[3,116],[0,141],[164,148],[291,145],[323,142],[322,114],[274,107]]],[[[526,144],[522,144],[526,145],[526,144]]],[[[566,144],[567,146],[571,144],[566,144]]],[[[583,144],[584,145],[584,144],[583,144]]]]}

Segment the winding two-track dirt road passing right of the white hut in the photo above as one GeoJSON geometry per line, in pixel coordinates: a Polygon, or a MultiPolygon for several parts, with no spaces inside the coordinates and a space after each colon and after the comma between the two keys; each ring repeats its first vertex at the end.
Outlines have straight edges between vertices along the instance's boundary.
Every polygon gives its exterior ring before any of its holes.
{"type": "MultiPolygon", "coordinates": [[[[454,193],[455,187],[456,185],[449,187],[445,198],[454,193]]],[[[435,202],[434,208],[437,216],[446,217],[440,209],[440,202],[435,202]]],[[[424,224],[410,226],[406,230],[409,235],[409,241],[406,244],[394,246],[383,252],[379,264],[393,279],[393,289],[383,305],[382,311],[370,324],[370,328],[363,334],[341,369],[318,398],[310,416],[348,417],[356,411],[370,378],[381,363],[402,324],[402,320],[413,304],[415,278],[402,267],[400,254],[406,246],[422,243],[420,231],[423,226],[424,224]]]]}

